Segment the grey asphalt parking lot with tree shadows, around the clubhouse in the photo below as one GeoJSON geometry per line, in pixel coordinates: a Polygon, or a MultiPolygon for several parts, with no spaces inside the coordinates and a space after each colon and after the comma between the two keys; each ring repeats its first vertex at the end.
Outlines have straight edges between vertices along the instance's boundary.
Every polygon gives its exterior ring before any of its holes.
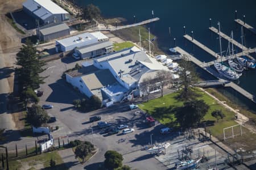
{"type": "MultiPolygon", "coordinates": [[[[50,116],[56,117],[57,121],[52,123],[52,126],[59,126],[59,130],[53,131],[53,138],[68,137],[72,139],[82,139],[93,142],[99,148],[99,152],[93,159],[86,163],[86,169],[94,169],[98,163],[103,162],[104,154],[107,150],[115,150],[120,152],[125,157],[125,163],[131,167],[139,169],[166,169],[163,164],[147,152],[141,149],[155,141],[164,141],[166,136],[159,133],[161,125],[156,122],[156,126],[149,128],[146,124],[146,117],[138,109],[129,109],[128,104],[114,105],[111,108],[102,108],[97,111],[80,113],[72,105],[75,99],[85,97],[79,92],[75,91],[61,75],[67,69],[73,68],[77,62],[71,57],[51,61],[47,64],[47,70],[42,74],[48,76],[44,84],[39,90],[44,91],[44,95],[40,97],[40,105],[51,104],[52,109],[47,112],[50,116]],[[89,122],[92,116],[101,116],[101,121],[106,121],[112,126],[126,124],[129,128],[135,131],[129,134],[113,134],[107,135],[102,133],[102,129],[98,128],[97,122],[89,122]],[[93,134],[92,134],[93,131],[93,134]],[[136,154],[135,154],[136,153],[136,154]],[[148,168],[145,168],[147,162],[148,168]]],[[[147,167],[146,166],[146,167],[147,167]]]]}

